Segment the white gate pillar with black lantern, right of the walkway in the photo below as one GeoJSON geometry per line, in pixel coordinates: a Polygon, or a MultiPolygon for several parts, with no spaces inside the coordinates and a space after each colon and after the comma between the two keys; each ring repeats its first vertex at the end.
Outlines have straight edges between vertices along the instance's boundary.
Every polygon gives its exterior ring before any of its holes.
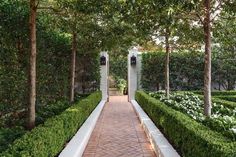
{"type": "Polygon", "coordinates": [[[129,50],[128,55],[128,99],[129,101],[135,99],[135,92],[138,89],[138,49],[133,48],[129,50]],[[131,57],[136,57],[136,65],[131,65],[131,57]]]}

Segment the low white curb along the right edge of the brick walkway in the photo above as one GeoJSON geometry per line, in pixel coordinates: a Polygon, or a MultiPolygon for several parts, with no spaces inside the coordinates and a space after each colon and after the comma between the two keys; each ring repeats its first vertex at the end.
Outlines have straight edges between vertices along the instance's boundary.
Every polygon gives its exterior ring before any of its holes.
{"type": "Polygon", "coordinates": [[[135,100],[131,100],[133,107],[138,114],[141,124],[150,139],[154,151],[160,157],[180,157],[161,131],[156,127],[148,115],[143,111],[135,100]]]}

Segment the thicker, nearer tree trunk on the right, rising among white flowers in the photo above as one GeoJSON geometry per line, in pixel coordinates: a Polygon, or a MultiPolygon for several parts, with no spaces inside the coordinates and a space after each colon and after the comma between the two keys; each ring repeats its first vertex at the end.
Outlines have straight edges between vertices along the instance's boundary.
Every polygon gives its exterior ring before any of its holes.
{"type": "Polygon", "coordinates": [[[205,38],[205,62],[204,62],[204,113],[211,116],[211,24],[210,24],[210,0],[204,0],[204,38],[205,38]]]}

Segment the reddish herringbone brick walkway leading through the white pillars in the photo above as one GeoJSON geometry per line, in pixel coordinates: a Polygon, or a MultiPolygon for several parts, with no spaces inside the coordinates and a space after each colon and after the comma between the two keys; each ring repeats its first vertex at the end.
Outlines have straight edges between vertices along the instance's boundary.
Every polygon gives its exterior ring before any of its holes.
{"type": "Polygon", "coordinates": [[[127,96],[111,96],[83,157],[155,157],[127,96]]]}

